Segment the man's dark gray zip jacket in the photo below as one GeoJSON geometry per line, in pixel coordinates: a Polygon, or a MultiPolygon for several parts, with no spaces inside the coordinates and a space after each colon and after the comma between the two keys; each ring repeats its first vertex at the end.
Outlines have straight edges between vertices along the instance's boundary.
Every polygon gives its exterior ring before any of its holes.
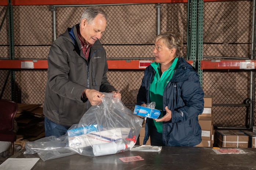
{"type": "Polygon", "coordinates": [[[99,40],[91,47],[89,62],[85,59],[77,36],[79,24],[68,28],[57,38],[48,55],[48,81],[44,115],[56,124],[77,124],[91,107],[82,98],[85,88],[100,92],[115,90],[107,81],[106,52],[99,40]]]}

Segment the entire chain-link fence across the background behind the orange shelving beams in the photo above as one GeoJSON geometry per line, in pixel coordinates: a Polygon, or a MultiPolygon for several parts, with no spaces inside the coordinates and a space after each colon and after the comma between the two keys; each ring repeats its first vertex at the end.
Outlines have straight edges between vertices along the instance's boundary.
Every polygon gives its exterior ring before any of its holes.
{"type": "MultiPolygon", "coordinates": [[[[109,16],[100,39],[107,59],[154,60],[154,38],[157,35],[157,5],[161,5],[160,31],[178,31],[183,35],[182,56],[186,56],[187,3],[129,4],[101,7],[109,16]]],[[[252,33],[252,1],[204,3],[204,60],[250,58],[252,33]]],[[[80,22],[86,7],[55,7],[56,37],[80,22]]],[[[52,7],[14,6],[15,59],[47,59],[53,42],[52,7]]],[[[0,6],[0,19],[7,10],[0,6]]],[[[0,58],[10,58],[8,17],[0,30],[0,58]]],[[[186,58],[186,57],[185,57],[186,58]]],[[[19,103],[42,104],[47,81],[46,70],[12,70],[15,72],[19,103]]],[[[0,70],[2,98],[11,98],[8,70],[0,70]],[[7,80],[7,81],[6,81],[7,80]],[[5,86],[6,84],[6,86],[5,86]]],[[[122,101],[134,109],[143,71],[109,70],[108,78],[122,94],[122,101]]],[[[249,71],[203,71],[205,95],[213,97],[213,122],[220,127],[245,127],[245,106],[250,97],[249,71]],[[233,104],[235,106],[225,106],[233,104]],[[223,106],[217,106],[223,105],[223,106]]]]}

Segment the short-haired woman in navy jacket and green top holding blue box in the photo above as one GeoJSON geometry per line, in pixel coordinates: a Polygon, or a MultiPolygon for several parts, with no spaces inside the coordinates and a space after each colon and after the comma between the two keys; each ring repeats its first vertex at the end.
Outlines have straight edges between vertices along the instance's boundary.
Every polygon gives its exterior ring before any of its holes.
{"type": "Polygon", "coordinates": [[[152,146],[196,146],[202,140],[198,115],[204,91],[195,68],[180,57],[181,49],[179,33],[162,33],[155,40],[156,59],[145,69],[136,104],[156,102],[161,115],[147,118],[143,144],[149,136],[152,146]]]}

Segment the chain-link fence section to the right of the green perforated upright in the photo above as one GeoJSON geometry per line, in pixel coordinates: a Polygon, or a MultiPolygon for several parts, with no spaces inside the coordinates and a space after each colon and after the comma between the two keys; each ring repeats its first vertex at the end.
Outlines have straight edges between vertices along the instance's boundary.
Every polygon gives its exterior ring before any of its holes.
{"type": "MultiPolygon", "coordinates": [[[[252,7],[252,1],[204,3],[204,60],[250,59],[252,7]]],[[[249,71],[204,70],[203,89],[213,97],[215,126],[247,127],[249,71]]]]}

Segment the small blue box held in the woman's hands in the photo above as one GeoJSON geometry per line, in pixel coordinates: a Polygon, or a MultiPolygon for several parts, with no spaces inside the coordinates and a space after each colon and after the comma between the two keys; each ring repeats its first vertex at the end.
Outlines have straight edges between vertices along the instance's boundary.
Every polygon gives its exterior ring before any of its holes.
{"type": "Polygon", "coordinates": [[[149,118],[158,118],[161,114],[160,110],[150,109],[147,107],[135,105],[134,114],[149,118]]]}

